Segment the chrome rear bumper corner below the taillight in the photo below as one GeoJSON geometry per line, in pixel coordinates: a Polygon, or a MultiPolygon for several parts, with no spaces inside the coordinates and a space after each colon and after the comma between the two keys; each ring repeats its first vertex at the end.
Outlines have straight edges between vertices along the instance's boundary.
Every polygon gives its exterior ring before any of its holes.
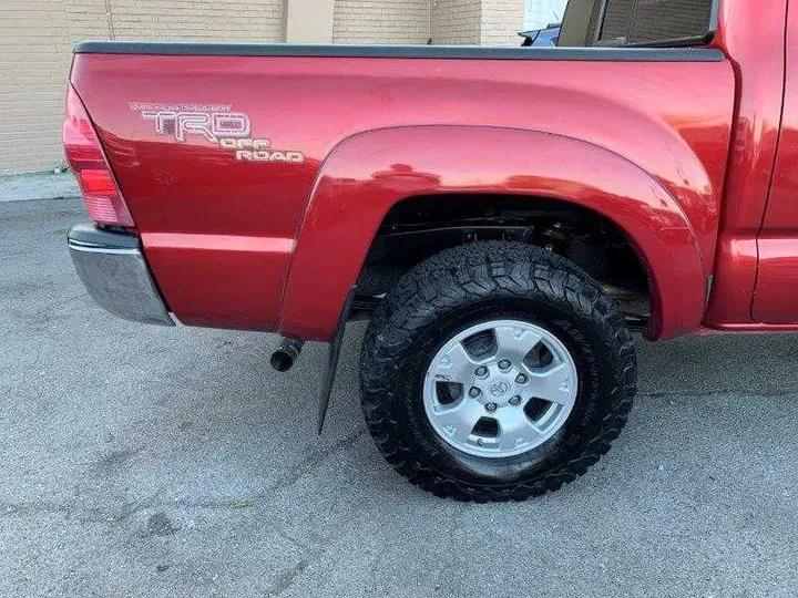
{"type": "Polygon", "coordinates": [[[135,236],[78,225],[66,243],[78,276],[100,307],[125,320],[174,326],[135,236]]]}

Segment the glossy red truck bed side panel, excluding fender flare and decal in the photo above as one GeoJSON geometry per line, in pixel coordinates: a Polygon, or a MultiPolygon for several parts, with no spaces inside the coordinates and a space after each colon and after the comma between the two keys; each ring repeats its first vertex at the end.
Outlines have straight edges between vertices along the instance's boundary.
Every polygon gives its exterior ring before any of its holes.
{"type": "MultiPolygon", "coordinates": [[[[675,198],[712,271],[734,103],[723,60],[78,54],[72,81],[185,323],[275,329],[323,161],[352,135],[386,127],[536,131],[623,156],[675,198]],[[158,134],[143,104],[225,106],[248,115],[272,150],[305,159],[242,162],[202,135],[180,143],[158,134]]],[[[319,298],[319,310],[339,308],[319,298]]]]}

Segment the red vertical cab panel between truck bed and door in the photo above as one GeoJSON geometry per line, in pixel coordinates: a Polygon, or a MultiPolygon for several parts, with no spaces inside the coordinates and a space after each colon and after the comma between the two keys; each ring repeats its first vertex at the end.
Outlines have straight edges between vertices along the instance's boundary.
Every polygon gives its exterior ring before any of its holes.
{"type": "Polygon", "coordinates": [[[754,322],[759,233],[776,157],[787,0],[724,0],[715,44],[737,79],[732,151],[707,327],[754,322]]]}

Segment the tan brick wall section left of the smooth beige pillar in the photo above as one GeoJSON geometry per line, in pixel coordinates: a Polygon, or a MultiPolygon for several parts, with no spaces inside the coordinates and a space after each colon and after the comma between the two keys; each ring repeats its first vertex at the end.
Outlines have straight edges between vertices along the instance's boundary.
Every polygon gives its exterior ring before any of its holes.
{"type": "Polygon", "coordinates": [[[277,42],[283,35],[284,0],[27,0],[3,8],[0,175],[63,165],[63,102],[76,41],[277,42]]]}

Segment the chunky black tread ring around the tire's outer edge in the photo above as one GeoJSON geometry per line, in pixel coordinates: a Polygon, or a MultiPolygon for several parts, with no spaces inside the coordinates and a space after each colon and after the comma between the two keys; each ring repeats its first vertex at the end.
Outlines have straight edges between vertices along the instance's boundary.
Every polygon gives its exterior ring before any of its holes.
{"type": "Polygon", "coordinates": [[[362,409],[374,441],[401,475],[436,496],[478,503],[524,501],[556,491],[598,462],[621,434],[636,393],[634,341],[614,301],[585,272],[566,259],[513,241],[485,241],[447,249],[408,271],[377,309],[361,351],[362,409]],[[401,357],[417,330],[463,300],[479,301],[495,289],[518,296],[534,293],[563,306],[607,339],[616,364],[608,382],[610,409],[580,454],[534,482],[504,486],[475,485],[441,474],[413,458],[396,432],[388,402],[401,357]]]}

